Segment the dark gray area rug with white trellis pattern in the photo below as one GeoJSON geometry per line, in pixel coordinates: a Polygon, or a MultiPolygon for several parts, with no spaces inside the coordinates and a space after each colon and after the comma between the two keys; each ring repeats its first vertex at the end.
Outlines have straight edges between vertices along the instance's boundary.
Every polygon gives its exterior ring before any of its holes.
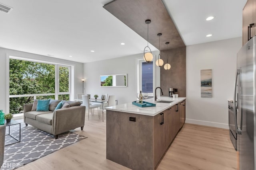
{"type": "MultiPolygon", "coordinates": [[[[10,133],[18,138],[19,125],[10,126],[10,133]]],[[[8,127],[6,127],[8,134],[8,127]]],[[[0,170],[13,170],[28,164],[38,158],[42,158],[56,150],[72,145],[82,139],[86,139],[82,135],[67,132],[54,139],[54,135],[37,129],[36,127],[21,123],[21,141],[13,145],[8,145],[4,149],[4,164],[0,170]]],[[[5,145],[15,142],[10,136],[6,136],[5,145]]]]}

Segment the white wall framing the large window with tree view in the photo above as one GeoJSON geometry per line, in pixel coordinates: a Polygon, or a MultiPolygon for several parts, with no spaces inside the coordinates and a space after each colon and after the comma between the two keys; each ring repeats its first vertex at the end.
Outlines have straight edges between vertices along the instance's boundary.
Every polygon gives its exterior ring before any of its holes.
{"type": "Polygon", "coordinates": [[[16,51],[16,50],[11,50],[11,49],[4,49],[0,48],[0,109],[3,109],[4,112],[8,111],[8,104],[9,104],[9,92],[8,92],[8,86],[9,82],[7,82],[7,76],[9,75],[9,65],[8,59],[9,56],[14,56],[14,57],[22,57],[26,59],[33,59],[33,60],[38,60],[38,61],[47,61],[51,63],[58,63],[58,64],[64,64],[64,65],[71,65],[72,70],[71,73],[74,73],[74,84],[72,89],[72,96],[70,96],[70,100],[74,99],[74,96],[76,96],[77,93],[82,93],[82,81],[81,79],[83,78],[83,63],[77,63],[73,61],[67,61],[67,60],[62,60],[62,59],[57,59],[53,57],[46,57],[42,55],[36,55],[32,53],[25,53],[22,51],[16,51]]]}

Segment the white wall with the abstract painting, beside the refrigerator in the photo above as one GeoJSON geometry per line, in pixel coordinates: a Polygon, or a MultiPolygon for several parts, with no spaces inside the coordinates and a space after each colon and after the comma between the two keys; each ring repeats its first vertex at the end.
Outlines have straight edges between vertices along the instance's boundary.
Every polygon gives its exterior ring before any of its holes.
{"type": "Polygon", "coordinates": [[[242,37],[186,47],[186,123],[228,129],[236,54],[242,37]],[[212,98],[200,97],[200,70],[212,69],[212,98]]]}

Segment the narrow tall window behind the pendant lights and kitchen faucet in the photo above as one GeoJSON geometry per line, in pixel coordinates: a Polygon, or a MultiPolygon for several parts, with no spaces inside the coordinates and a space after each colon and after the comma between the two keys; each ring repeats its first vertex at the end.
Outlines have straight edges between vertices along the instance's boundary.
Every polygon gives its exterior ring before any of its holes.
{"type": "Polygon", "coordinates": [[[144,60],[139,61],[139,89],[142,90],[142,93],[148,93],[150,96],[153,96],[153,62],[147,63],[144,60]]]}

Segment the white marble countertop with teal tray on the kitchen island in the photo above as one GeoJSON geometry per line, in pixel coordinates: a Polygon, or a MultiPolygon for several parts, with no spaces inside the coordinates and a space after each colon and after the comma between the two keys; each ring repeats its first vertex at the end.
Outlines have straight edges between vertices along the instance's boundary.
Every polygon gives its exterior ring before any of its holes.
{"type": "Polygon", "coordinates": [[[158,97],[158,100],[167,100],[167,101],[173,101],[171,103],[159,103],[155,102],[154,98],[143,100],[146,102],[154,103],[156,104],[156,107],[139,107],[132,104],[132,101],[130,103],[126,104],[120,104],[117,106],[111,106],[106,107],[107,110],[112,111],[120,111],[120,112],[126,112],[126,113],[134,113],[139,115],[148,115],[148,116],[155,116],[158,113],[161,113],[162,111],[176,105],[177,103],[181,102],[182,100],[185,100],[186,98],[169,98],[165,96],[158,97]]]}

